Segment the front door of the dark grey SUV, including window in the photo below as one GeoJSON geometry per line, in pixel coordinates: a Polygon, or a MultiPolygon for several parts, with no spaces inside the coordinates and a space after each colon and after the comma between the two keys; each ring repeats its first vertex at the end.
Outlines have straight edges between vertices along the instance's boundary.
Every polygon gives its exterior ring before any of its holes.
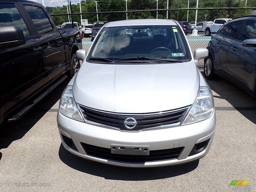
{"type": "Polygon", "coordinates": [[[240,31],[228,51],[228,73],[234,84],[251,92],[256,74],[256,48],[243,47],[241,42],[256,38],[256,22],[246,20],[240,31]]]}

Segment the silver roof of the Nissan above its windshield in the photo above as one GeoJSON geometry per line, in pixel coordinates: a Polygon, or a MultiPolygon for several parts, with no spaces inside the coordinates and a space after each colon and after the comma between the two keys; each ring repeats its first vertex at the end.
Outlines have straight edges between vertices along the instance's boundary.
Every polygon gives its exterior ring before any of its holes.
{"type": "Polygon", "coordinates": [[[143,25],[177,25],[174,20],[169,19],[131,19],[122,21],[113,21],[106,24],[105,27],[118,26],[143,26],[143,25]]]}

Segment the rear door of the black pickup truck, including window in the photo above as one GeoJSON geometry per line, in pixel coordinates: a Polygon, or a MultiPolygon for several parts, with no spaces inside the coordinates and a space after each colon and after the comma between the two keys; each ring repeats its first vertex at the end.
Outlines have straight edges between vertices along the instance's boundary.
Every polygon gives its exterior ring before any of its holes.
{"type": "Polygon", "coordinates": [[[40,5],[24,4],[33,24],[37,36],[42,44],[45,65],[48,71],[48,81],[52,81],[66,71],[66,59],[62,37],[55,26],[52,26],[50,16],[40,5]]]}

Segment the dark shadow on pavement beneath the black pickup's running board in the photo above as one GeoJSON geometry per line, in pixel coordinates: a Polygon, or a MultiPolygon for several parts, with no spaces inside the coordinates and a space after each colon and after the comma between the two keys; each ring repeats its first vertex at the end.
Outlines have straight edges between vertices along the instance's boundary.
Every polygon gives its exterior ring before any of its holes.
{"type": "MultiPolygon", "coordinates": [[[[68,81],[64,81],[17,121],[0,125],[0,149],[21,139],[60,99],[68,81]]],[[[56,111],[57,113],[57,111],[56,111]]]]}

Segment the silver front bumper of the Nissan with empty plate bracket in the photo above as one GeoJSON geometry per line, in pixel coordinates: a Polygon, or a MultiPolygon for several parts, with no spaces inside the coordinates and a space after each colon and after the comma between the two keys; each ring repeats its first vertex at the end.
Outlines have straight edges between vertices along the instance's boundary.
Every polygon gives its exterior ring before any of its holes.
{"type": "MultiPolygon", "coordinates": [[[[216,116],[214,112],[209,119],[198,123],[141,132],[122,132],[98,127],[72,120],[63,116],[60,112],[58,112],[57,122],[63,146],[77,156],[124,167],[157,167],[187,163],[204,157],[209,152],[212,144],[216,116]],[[197,144],[206,142],[207,144],[203,150],[192,153],[197,144]],[[137,145],[138,147],[148,145],[150,151],[156,152],[157,150],[175,150],[176,148],[181,148],[181,151],[177,157],[172,159],[127,162],[104,158],[108,157],[109,154],[103,157],[90,155],[85,150],[86,145],[100,150],[111,150],[111,144],[137,145]]],[[[112,154],[110,153],[110,155],[112,154]]]]}

